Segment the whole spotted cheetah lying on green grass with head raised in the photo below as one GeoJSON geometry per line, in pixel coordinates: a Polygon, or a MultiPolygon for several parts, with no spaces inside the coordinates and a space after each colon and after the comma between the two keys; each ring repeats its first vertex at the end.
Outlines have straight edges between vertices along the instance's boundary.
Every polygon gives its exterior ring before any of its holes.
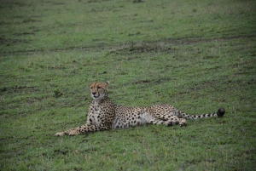
{"type": "Polygon", "coordinates": [[[189,115],[178,111],[172,105],[152,105],[148,107],[128,107],[116,105],[108,98],[108,82],[95,82],[90,85],[90,103],[85,125],[72,128],[55,136],[75,135],[87,132],[103,131],[111,128],[129,128],[144,124],[165,124],[166,126],[185,126],[186,119],[203,117],[223,117],[224,108],[216,113],[189,115]]]}

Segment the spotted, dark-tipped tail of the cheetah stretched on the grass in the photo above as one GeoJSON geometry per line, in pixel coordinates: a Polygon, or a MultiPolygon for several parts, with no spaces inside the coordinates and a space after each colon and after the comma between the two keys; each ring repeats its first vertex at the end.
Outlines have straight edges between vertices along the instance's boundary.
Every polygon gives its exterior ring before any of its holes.
{"type": "Polygon", "coordinates": [[[189,114],[183,113],[182,111],[179,111],[177,117],[183,117],[185,119],[200,119],[204,117],[223,117],[224,114],[225,114],[224,108],[219,108],[216,113],[208,113],[203,115],[189,115],[189,114]]]}

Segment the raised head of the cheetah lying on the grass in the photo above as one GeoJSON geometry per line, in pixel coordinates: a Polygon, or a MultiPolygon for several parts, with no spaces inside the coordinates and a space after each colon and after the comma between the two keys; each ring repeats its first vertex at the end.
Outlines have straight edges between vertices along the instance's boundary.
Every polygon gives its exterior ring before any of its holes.
{"type": "Polygon", "coordinates": [[[94,82],[90,85],[90,95],[93,100],[102,100],[108,92],[108,82],[94,82]]]}

